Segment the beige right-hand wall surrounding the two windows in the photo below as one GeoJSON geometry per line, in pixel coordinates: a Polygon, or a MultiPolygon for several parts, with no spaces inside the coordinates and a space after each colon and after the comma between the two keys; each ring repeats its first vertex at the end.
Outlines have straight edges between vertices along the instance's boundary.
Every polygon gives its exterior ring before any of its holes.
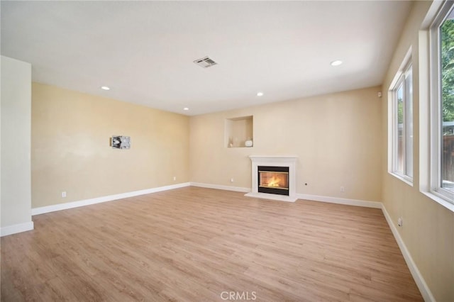
{"type": "Polygon", "coordinates": [[[427,82],[427,71],[421,69],[422,73],[419,74],[419,62],[427,61],[427,52],[423,50],[420,56],[420,47],[424,42],[419,40],[419,36],[424,36],[424,33],[419,33],[419,30],[430,6],[431,1],[417,1],[414,5],[383,84],[385,92],[411,47],[414,70],[414,186],[405,184],[387,172],[388,100],[384,93],[382,196],[396,227],[397,219],[403,218],[404,226],[397,227],[397,230],[436,301],[454,301],[454,213],[419,191],[420,173],[423,172],[419,162],[420,155],[422,157],[424,153],[419,148],[419,118],[427,114],[419,112],[419,104],[428,101],[427,96],[420,94],[420,89],[425,85],[423,81],[427,82]]]}

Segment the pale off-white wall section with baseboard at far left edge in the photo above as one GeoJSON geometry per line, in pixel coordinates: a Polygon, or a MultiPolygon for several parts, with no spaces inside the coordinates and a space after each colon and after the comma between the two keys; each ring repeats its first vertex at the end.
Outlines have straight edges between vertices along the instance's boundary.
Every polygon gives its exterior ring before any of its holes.
{"type": "Polygon", "coordinates": [[[1,234],[31,221],[31,65],[1,56],[1,234]]]}

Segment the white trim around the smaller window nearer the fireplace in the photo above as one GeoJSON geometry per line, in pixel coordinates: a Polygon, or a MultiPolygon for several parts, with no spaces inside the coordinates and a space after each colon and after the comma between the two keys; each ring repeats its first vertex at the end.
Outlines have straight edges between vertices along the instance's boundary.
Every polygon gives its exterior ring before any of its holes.
{"type": "MultiPolygon", "coordinates": [[[[397,179],[400,179],[404,181],[406,184],[409,186],[413,186],[413,177],[410,177],[409,175],[405,174],[406,171],[406,159],[404,159],[404,173],[400,173],[397,171],[397,123],[394,123],[397,121],[397,107],[394,106],[394,95],[395,91],[397,88],[400,86],[400,83],[404,85],[404,91],[405,89],[405,77],[406,73],[409,72],[409,69],[412,68],[412,62],[411,62],[411,47],[408,52],[406,52],[406,55],[404,57],[404,60],[402,61],[402,65],[399,67],[399,71],[396,73],[394,76],[394,79],[392,80],[391,84],[389,85],[388,89],[388,173],[391,174],[392,176],[396,177],[397,179]]],[[[405,93],[405,92],[404,92],[405,93]]],[[[413,104],[413,102],[412,102],[413,104]]],[[[406,101],[404,100],[404,106],[406,106],[406,101]]],[[[405,131],[405,117],[406,116],[406,111],[404,108],[404,131],[405,131]]],[[[404,143],[403,146],[405,148],[405,133],[404,135],[404,143]]],[[[414,150],[414,148],[413,148],[414,150]]],[[[406,157],[406,150],[404,152],[404,155],[406,157]]]]}

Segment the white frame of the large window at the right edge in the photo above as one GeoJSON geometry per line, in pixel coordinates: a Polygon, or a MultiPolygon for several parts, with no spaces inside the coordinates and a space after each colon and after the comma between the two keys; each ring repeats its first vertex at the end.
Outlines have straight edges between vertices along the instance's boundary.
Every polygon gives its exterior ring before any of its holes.
{"type": "MultiPolygon", "coordinates": [[[[442,95],[441,95],[441,54],[440,54],[440,28],[448,18],[451,11],[454,10],[454,3],[446,1],[441,9],[433,18],[433,22],[429,28],[429,54],[430,54],[430,99],[429,99],[429,186],[428,191],[430,194],[441,198],[433,198],[438,203],[443,201],[448,202],[448,208],[453,209],[454,206],[454,193],[442,186],[443,177],[441,175],[442,169],[442,95]]],[[[446,205],[445,205],[446,206],[446,205]]]]}

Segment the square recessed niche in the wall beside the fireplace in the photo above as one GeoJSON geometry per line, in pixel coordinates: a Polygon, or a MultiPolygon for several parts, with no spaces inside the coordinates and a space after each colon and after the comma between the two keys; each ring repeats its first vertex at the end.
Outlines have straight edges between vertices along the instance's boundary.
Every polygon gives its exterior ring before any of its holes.
{"type": "Polygon", "coordinates": [[[226,118],[225,145],[226,147],[252,147],[254,121],[253,116],[226,118]]]}

